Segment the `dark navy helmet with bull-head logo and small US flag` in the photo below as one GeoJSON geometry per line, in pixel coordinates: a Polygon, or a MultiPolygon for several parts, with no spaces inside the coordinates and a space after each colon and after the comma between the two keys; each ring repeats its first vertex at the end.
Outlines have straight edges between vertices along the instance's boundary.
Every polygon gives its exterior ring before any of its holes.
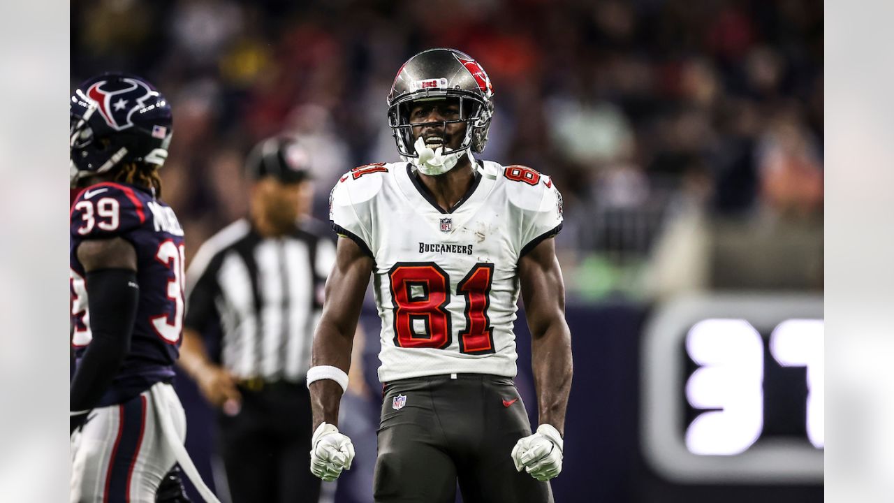
{"type": "Polygon", "coordinates": [[[164,165],[171,143],[171,106],[148,81],[104,73],[72,94],[70,177],[99,175],[124,163],[164,165]]]}

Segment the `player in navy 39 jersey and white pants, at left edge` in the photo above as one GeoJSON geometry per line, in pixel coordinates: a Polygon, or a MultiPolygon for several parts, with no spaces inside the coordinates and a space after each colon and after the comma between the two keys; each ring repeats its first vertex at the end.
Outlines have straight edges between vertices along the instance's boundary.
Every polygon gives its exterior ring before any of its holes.
{"type": "Polygon", "coordinates": [[[72,501],[186,501],[186,422],[171,386],[183,316],[183,229],[159,200],[171,107],[109,73],[71,98],[72,501]]]}

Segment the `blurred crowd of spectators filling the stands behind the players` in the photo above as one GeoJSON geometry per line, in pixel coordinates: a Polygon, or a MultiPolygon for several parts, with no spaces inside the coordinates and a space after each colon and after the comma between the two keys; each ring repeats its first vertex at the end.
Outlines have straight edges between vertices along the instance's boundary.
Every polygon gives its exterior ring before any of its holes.
{"type": "Polygon", "coordinates": [[[400,160],[385,96],[429,47],[495,90],[480,158],[552,176],[569,296],[822,290],[822,3],[814,0],[72,0],[72,90],[110,70],[172,104],[163,199],[188,255],[248,210],[243,158],[297,135],[315,216],[400,160]]]}

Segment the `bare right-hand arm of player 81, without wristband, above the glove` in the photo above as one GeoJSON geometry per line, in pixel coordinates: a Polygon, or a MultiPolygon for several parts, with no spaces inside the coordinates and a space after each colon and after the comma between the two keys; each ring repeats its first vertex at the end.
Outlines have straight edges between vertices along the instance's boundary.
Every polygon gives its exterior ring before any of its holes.
{"type": "Polygon", "coordinates": [[[544,240],[519,260],[519,280],[531,331],[539,422],[564,435],[573,364],[571,333],[565,321],[565,286],[554,240],[544,240]]]}

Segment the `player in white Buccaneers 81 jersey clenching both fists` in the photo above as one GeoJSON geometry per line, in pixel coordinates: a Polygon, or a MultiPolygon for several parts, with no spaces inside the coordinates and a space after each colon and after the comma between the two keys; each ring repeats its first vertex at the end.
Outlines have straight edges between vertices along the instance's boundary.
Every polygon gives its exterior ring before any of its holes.
{"type": "Polygon", "coordinates": [[[484,150],[493,87],[453,49],[409,59],[388,97],[403,163],[352,169],[333,188],[340,234],[326,283],[308,387],[311,471],[350,469],[337,428],[351,339],[373,277],[382,318],[384,403],[376,501],[552,501],[561,472],[571,339],[553,240],[561,195],[526,166],[484,150]],[[519,293],[532,334],[539,426],[532,434],[512,379],[519,293]]]}

